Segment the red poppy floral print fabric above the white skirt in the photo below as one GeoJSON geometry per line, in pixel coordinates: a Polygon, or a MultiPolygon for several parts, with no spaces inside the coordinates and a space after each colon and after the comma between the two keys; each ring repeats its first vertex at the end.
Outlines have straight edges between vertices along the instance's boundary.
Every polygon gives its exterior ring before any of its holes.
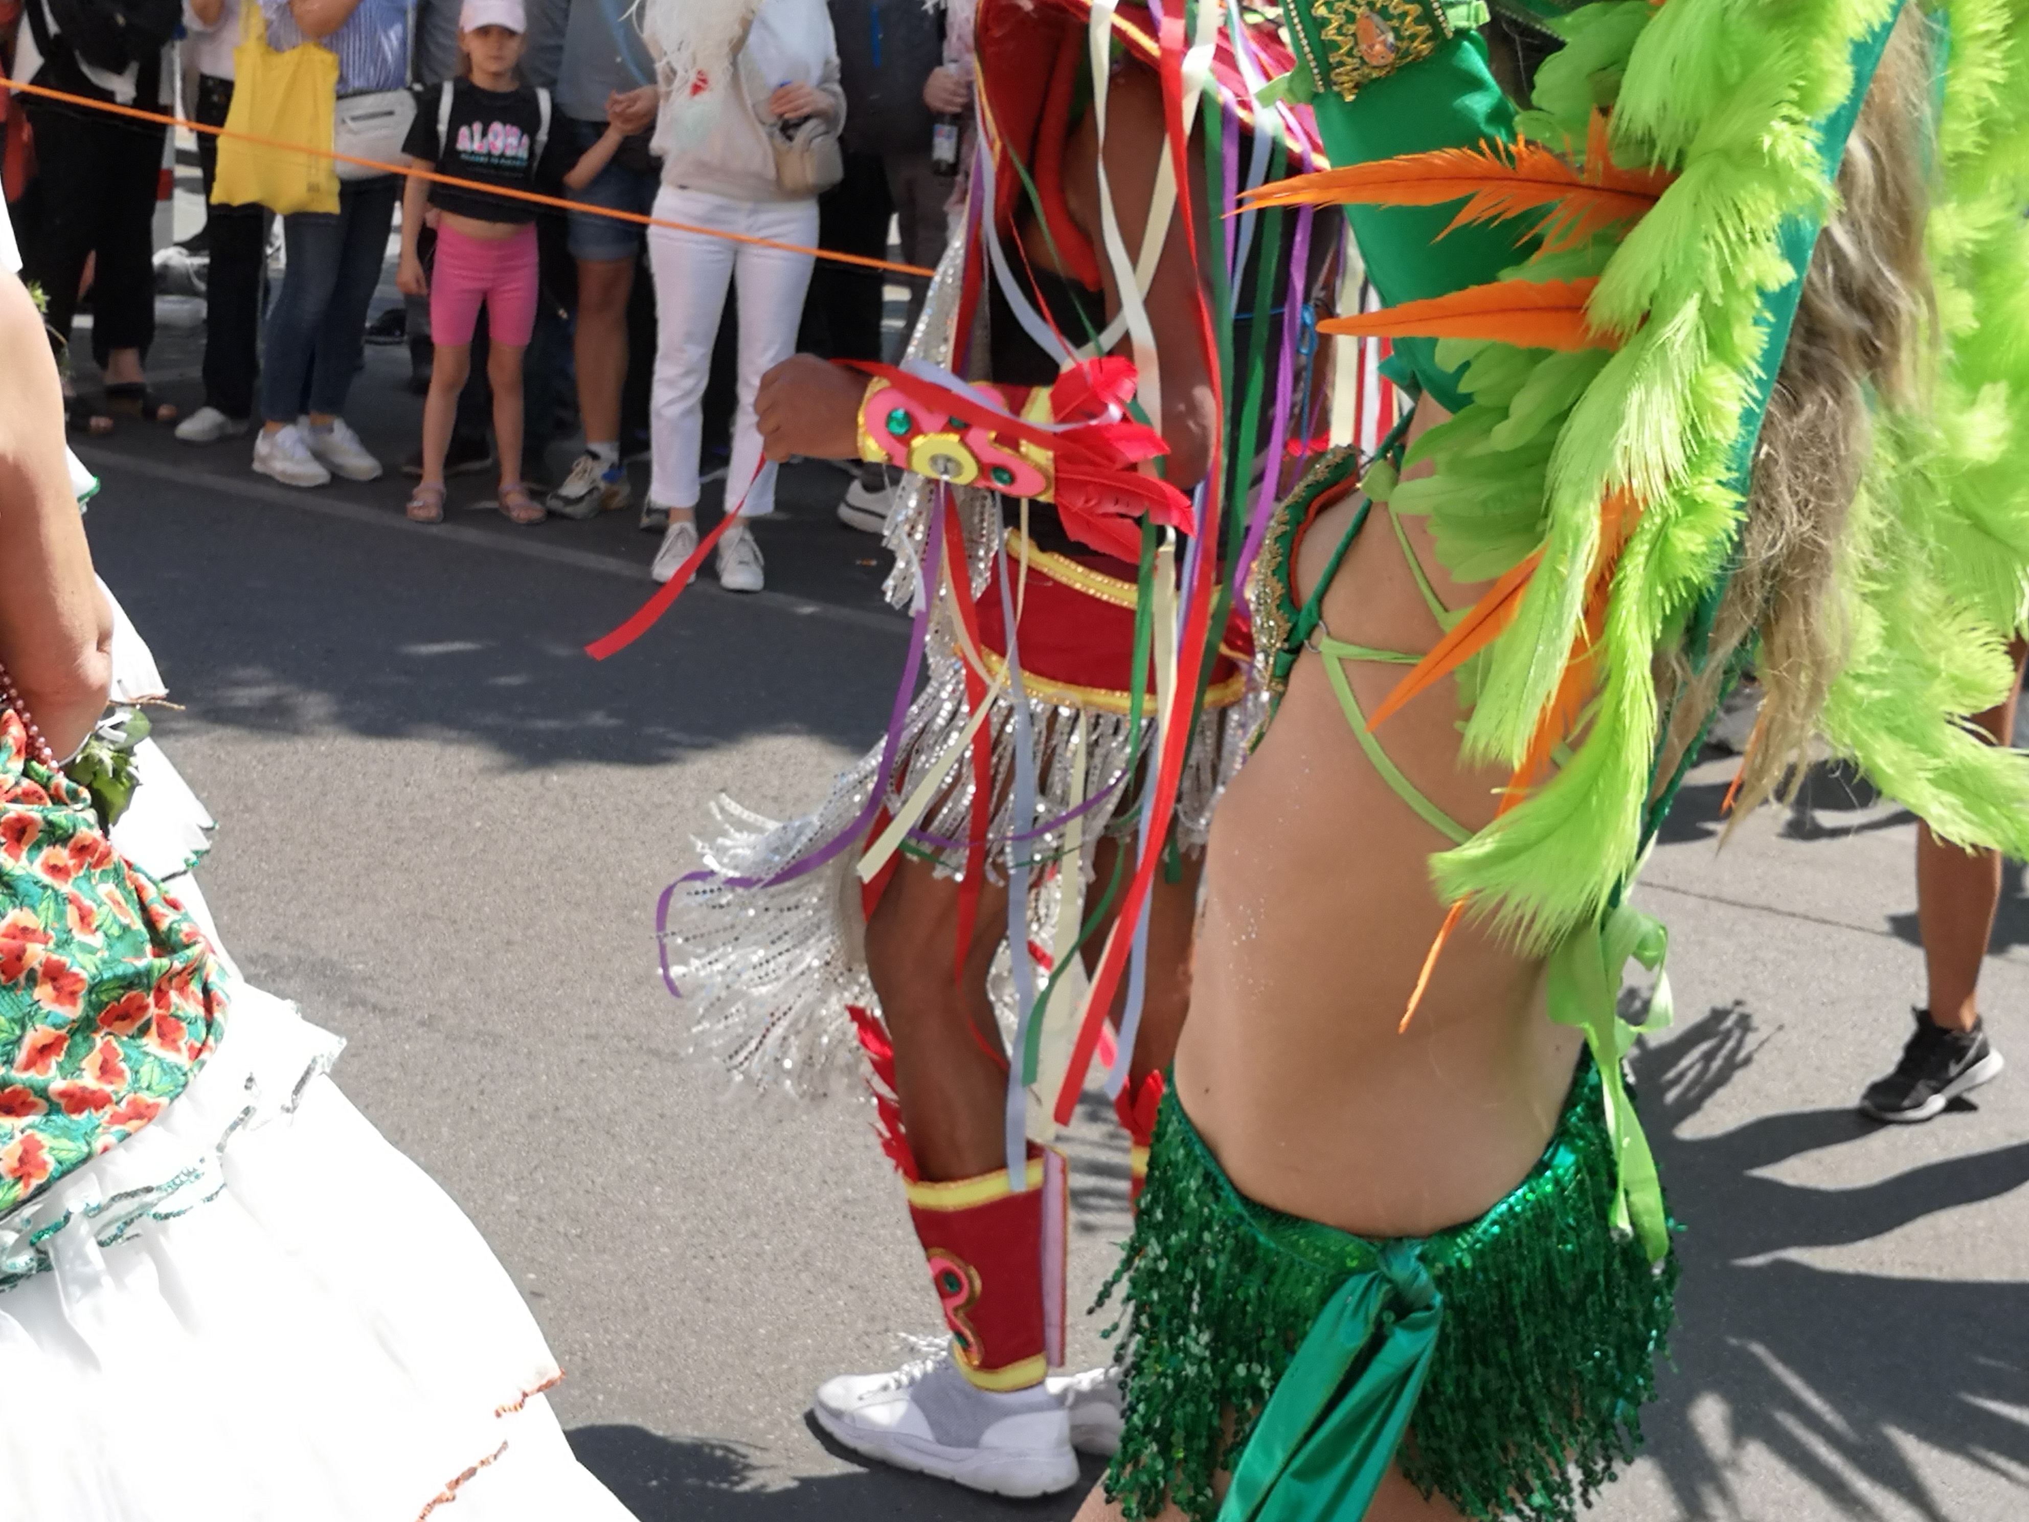
{"type": "Polygon", "coordinates": [[[0,1218],[154,1120],[217,1045],[203,933],[0,710],[0,1218]]]}

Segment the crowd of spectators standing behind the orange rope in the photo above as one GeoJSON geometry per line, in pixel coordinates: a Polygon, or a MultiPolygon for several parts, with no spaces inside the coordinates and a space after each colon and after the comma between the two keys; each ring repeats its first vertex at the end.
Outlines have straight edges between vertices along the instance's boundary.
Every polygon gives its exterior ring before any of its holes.
{"type": "MultiPolygon", "coordinates": [[[[252,436],[252,469],[290,487],[371,481],[386,467],[347,402],[363,343],[406,341],[410,390],[426,398],[420,446],[402,463],[412,520],[442,520],[448,475],[497,469],[497,505],[515,524],[637,511],[661,536],[653,574],[668,580],[696,550],[704,485],[722,477],[741,522],[720,538],[716,574],[759,591],[751,520],[775,505],[753,420],[761,375],[799,347],[879,359],[899,341],[883,323],[893,274],[801,250],[883,258],[895,235],[903,262],[935,266],[956,205],[952,126],[970,106],[970,4],[759,0],[745,6],[728,77],[678,79],[684,30],[741,8],[0,0],[10,79],[227,126],[243,59],[323,49],[337,65],[317,77],[331,81],[341,152],[347,108],[365,120],[406,89],[400,152],[379,148],[392,162],[570,203],[420,177],[404,193],[398,172],[341,164],[335,211],[278,217],[213,203],[219,140],[199,134],[203,404],[179,416],[146,373],[166,128],[16,93],[0,158],[59,357],[79,300],[91,308],[101,384],[87,390],[83,365],[65,363],[71,428],[106,432],[126,412],[193,446],[252,436]],[[373,315],[398,225],[404,300],[373,315]],[[552,473],[572,436],[576,459],[552,473]],[[637,507],[627,465],[641,457],[637,507]]],[[[907,284],[913,325],[923,280],[907,284]]],[[[883,469],[866,467],[838,515],[881,532],[891,497],[883,469]]]]}

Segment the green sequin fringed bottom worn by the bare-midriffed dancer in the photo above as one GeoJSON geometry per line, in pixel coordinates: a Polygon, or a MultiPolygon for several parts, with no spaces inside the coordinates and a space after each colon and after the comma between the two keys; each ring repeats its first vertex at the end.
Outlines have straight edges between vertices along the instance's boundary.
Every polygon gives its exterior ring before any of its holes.
{"type": "MultiPolygon", "coordinates": [[[[1152,1518],[1167,1500],[1209,1522],[1213,1475],[1260,1467],[1248,1439],[1256,1427],[1274,1437],[1262,1412],[1299,1345],[1329,1341],[1311,1335],[1321,1313],[1359,1283],[1382,1287],[1374,1307],[1394,1299],[1374,1309],[1368,1350],[1349,1356],[1347,1378],[1359,1376],[1357,1360],[1378,1364],[1374,1345],[1410,1319],[1390,1287],[1412,1274],[1420,1299],[1435,1289],[1441,1307],[1422,1315],[1435,1337],[1424,1331],[1420,1394],[1402,1384],[1412,1414],[1394,1459],[1426,1496],[1441,1492],[1479,1522],[1572,1522],[1641,1445],[1639,1408],[1656,1394],[1676,1295],[1676,1254],[1652,1268],[1639,1242],[1609,1230],[1613,1185],[1589,1055],[1530,1175],[1485,1216],[1420,1240],[1374,1242],[1246,1199],[1165,1096],[1134,1238],[1100,1295],[1126,1283],[1126,1427],[1108,1496],[1128,1518],[1152,1518]]],[[[1376,1465],[1386,1461],[1380,1451],[1376,1465]]]]}

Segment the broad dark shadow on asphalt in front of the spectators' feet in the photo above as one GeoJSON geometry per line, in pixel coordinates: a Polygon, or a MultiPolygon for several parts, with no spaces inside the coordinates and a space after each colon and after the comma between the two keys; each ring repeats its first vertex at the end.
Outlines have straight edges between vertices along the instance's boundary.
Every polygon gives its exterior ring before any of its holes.
{"type": "Polygon", "coordinates": [[[907,649],[899,617],[893,631],[799,619],[714,591],[594,662],[582,641],[653,591],[645,574],[493,554],[118,467],[87,530],[177,702],[250,731],[454,735],[521,767],[657,765],[767,733],[858,749],[879,737],[907,649]]]}

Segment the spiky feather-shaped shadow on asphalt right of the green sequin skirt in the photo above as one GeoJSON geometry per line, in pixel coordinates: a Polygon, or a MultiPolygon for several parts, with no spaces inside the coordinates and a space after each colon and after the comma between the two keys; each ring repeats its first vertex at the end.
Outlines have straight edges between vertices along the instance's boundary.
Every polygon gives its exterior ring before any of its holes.
{"type": "Polygon", "coordinates": [[[1646,1453],[1690,1516],[1739,1510],[1729,1467],[1761,1447],[1844,1516],[1883,1516],[1861,1475],[1942,1522],[1905,1449],[1954,1453],[2011,1479],[2029,1463],[2029,1429],[2011,1414],[2029,1406],[2029,1341],[2015,1331],[2029,1325],[2029,1285],[1836,1272],[1769,1254],[1865,1242],[2005,1195],[2029,1183],[2029,1143],[1857,1189],[1759,1177],[1857,1140],[1871,1122],[1798,1110],[1684,1138],[1757,1047],[1753,1015],[1731,1005],[1633,1057],[1670,1207],[1688,1226],[1676,1370],[1643,1412],[1646,1453]]]}

